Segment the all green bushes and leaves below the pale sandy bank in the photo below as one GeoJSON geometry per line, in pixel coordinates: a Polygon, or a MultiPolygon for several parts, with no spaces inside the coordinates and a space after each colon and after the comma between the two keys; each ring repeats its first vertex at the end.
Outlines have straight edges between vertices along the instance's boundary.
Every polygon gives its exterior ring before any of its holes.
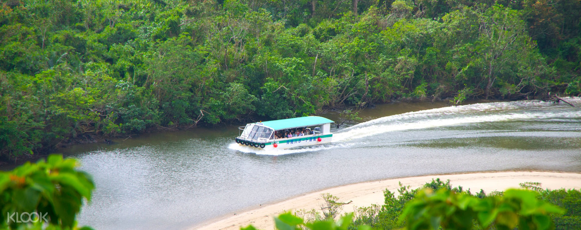
{"type": "MultiPolygon", "coordinates": [[[[277,229],[578,229],[581,223],[581,192],[543,190],[539,183],[521,184],[486,196],[472,195],[450,181],[439,179],[424,188],[401,186],[398,198],[386,189],[385,205],[359,208],[338,221],[317,216],[304,221],[303,213],[275,217],[277,229]]],[[[327,194],[324,199],[337,203],[327,194]],[[326,198],[325,198],[326,197],[326,198]]],[[[325,205],[325,206],[327,206],[325,205]]],[[[313,210],[314,211],[314,210],[313,210]]],[[[324,210],[323,210],[324,211],[324,210]]],[[[255,229],[252,225],[245,230],[255,229]]]]}

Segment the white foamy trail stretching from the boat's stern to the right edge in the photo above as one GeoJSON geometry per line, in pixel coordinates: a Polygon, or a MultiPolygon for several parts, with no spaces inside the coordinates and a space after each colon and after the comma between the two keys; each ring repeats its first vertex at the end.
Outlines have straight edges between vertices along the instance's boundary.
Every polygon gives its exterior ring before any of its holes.
{"type": "MultiPolygon", "coordinates": [[[[581,103],[581,98],[579,97],[569,97],[566,100],[572,103],[581,103]]],[[[333,134],[333,142],[348,141],[394,131],[431,129],[470,123],[581,118],[581,109],[569,109],[568,111],[550,109],[562,107],[568,108],[568,105],[556,105],[544,101],[511,101],[407,112],[405,114],[385,116],[340,130],[333,134]]]]}

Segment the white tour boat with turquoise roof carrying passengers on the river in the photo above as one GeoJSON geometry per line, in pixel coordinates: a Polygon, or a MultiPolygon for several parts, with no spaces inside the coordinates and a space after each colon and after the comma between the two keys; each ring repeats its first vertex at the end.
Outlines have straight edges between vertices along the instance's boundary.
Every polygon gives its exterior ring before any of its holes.
{"type": "Polygon", "coordinates": [[[286,149],[331,142],[331,123],[321,116],[255,122],[238,127],[236,143],[261,149],[286,149]]]}

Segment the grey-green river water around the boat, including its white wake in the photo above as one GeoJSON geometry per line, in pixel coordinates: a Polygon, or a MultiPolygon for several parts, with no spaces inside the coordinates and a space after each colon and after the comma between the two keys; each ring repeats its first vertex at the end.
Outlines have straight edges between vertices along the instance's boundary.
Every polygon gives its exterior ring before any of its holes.
{"type": "Polygon", "coordinates": [[[331,144],[295,150],[240,147],[236,127],[223,127],[83,145],[67,154],[96,183],[81,225],[184,229],[355,182],[468,171],[581,172],[581,98],[569,101],[578,107],[380,105],[360,112],[365,122],[335,129],[331,144]]]}

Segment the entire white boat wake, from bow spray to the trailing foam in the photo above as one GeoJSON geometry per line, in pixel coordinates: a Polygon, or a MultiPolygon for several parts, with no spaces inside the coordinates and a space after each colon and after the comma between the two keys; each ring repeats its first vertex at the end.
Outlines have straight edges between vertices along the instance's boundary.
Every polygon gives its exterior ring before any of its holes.
{"type": "MultiPolygon", "coordinates": [[[[568,97],[565,100],[576,106],[581,106],[580,97],[568,97]]],[[[353,145],[360,145],[361,143],[358,140],[361,140],[361,138],[381,136],[393,132],[444,127],[471,129],[469,126],[520,121],[572,122],[579,125],[571,126],[571,129],[573,131],[579,131],[581,129],[581,109],[565,104],[554,104],[544,101],[510,101],[460,105],[407,112],[405,114],[385,116],[372,121],[359,123],[333,133],[332,142],[325,145],[265,151],[264,149],[256,149],[232,143],[228,148],[257,155],[296,154],[325,149],[349,148],[353,145]]]]}

